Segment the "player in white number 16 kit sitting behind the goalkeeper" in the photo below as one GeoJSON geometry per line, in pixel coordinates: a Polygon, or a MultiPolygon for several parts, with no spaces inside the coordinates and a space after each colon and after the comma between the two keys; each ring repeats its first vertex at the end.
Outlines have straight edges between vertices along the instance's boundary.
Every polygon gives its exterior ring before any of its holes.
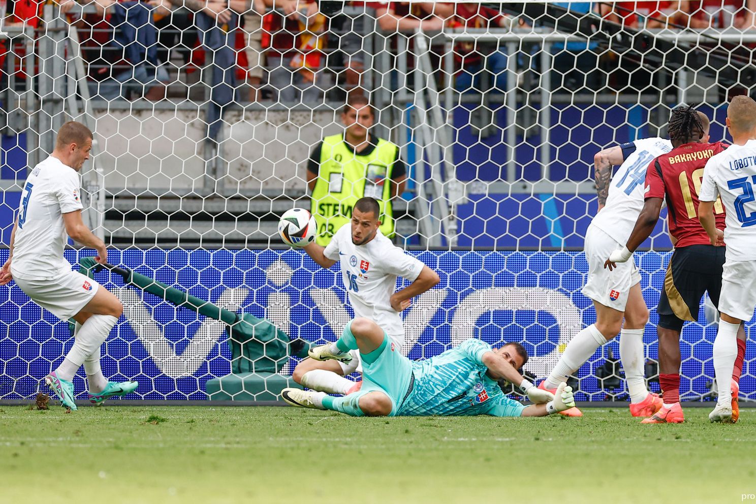
{"type": "MultiPolygon", "coordinates": [[[[311,243],[305,252],[322,267],[341,263],[344,287],[355,317],[373,320],[386,329],[389,340],[398,351],[404,345],[404,323],[400,312],[409,308],[414,296],[431,289],[439,281],[438,274],[383,236],[380,207],[376,199],[358,199],[352,210],[352,221],[342,226],[327,246],[311,243]],[[396,279],[412,283],[396,290],[396,279]]],[[[358,371],[358,352],[352,360],[342,363],[311,358],[302,360],[294,369],[295,382],[329,394],[348,394],[358,385],[344,376],[358,371]]]]}

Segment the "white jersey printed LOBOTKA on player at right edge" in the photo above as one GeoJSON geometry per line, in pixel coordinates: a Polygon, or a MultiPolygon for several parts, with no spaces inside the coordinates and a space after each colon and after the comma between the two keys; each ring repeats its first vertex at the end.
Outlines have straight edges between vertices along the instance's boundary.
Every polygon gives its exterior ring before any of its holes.
{"type": "Polygon", "coordinates": [[[756,140],[730,145],[709,158],[699,190],[700,201],[722,197],[724,243],[728,261],[756,261],[756,140]]]}

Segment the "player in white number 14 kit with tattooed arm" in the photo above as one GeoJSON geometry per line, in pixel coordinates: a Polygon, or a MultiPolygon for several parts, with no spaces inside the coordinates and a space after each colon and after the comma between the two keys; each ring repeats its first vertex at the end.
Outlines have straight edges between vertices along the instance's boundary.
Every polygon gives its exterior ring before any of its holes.
{"type": "MultiPolygon", "coordinates": [[[[619,332],[619,353],[632,415],[651,416],[661,407],[662,400],[646,388],[643,330],[649,320],[649,309],[640,290],[638,268],[634,261],[627,261],[609,271],[604,269],[604,261],[609,253],[624,246],[643,209],[643,187],[649,163],[671,149],[671,142],[664,138],[643,138],[602,150],[594,156],[599,212],[585,233],[588,280],[582,292],[593,300],[596,323],[570,340],[548,378],[539,385],[541,388],[556,390],[597,348],[619,332]],[[620,165],[613,178],[612,165],[620,165]]],[[[578,408],[562,414],[582,416],[578,408]]]]}

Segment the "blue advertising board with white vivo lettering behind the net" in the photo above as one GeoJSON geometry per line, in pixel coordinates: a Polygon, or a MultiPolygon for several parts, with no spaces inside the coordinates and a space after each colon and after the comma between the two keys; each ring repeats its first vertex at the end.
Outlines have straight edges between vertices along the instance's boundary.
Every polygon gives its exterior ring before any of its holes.
{"type": "MultiPolygon", "coordinates": [[[[413,359],[431,357],[469,337],[494,346],[523,342],[532,356],[526,369],[542,377],[572,335],[595,320],[593,306],[580,293],[587,269],[580,252],[414,253],[438,271],[442,282],[416,298],[405,314],[404,352],[413,359]]],[[[5,257],[7,252],[0,254],[0,260],[5,257]]],[[[67,251],[67,257],[75,261],[76,252],[67,251]]],[[[658,302],[667,258],[668,253],[638,255],[651,308],[658,302]]],[[[109,260],[227,308],[268,317],[292,337],[332,341],[352,313],[338,267],[324,270],[296,250],[129,249],[111,252],[109,260]]],[[[122,287],[120,277],[107,272],[96,277],[108,289],[122,287]]],[[[106,376],[140,381],[133,398],[204,399],[206,381],[230,373],[222,324],[140,291],[118,293],[125,313],[104,345],[102,363],[106,376]]],[[[5,329],[0,333],[0,399],[29,397],[60,363],[73,338],[67,324],[43,313],[15,285],[0,288],[0,320],[5,329]]],[[[644,336],[650,359],[657,355],[657,320],[652,310],[644,336]]],[[[713,324],[689,323],[683,329],[683,396],[708,391],[715,334],[713,324]]],[[[605,398],[594,373],[609,351],[618,357],[618,342],[597,351],[580,369],[579,399],[605,398]]],[[[754,359],[754,353],[749,348],[746,360],[754,359]]],[[[748,365],[741,390],[749,394],[756,379],[747,371],[748,365]]],[[[75,381],[77,394],[85,391],[81,373],[75,381]]],[[[653,387],[658,390],[658,385],[653,387]]]]}

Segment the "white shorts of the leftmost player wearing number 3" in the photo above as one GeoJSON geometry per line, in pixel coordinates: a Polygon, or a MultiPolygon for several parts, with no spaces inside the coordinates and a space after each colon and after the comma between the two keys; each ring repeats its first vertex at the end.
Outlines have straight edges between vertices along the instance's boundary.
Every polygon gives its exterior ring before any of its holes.
{"type": "Polygon", "coordinates": [[[78,271],[68,271],[52,280],[23,280],[16,285],[37,305],[67,321],[95,297],[100,284],[78,271]]]}

